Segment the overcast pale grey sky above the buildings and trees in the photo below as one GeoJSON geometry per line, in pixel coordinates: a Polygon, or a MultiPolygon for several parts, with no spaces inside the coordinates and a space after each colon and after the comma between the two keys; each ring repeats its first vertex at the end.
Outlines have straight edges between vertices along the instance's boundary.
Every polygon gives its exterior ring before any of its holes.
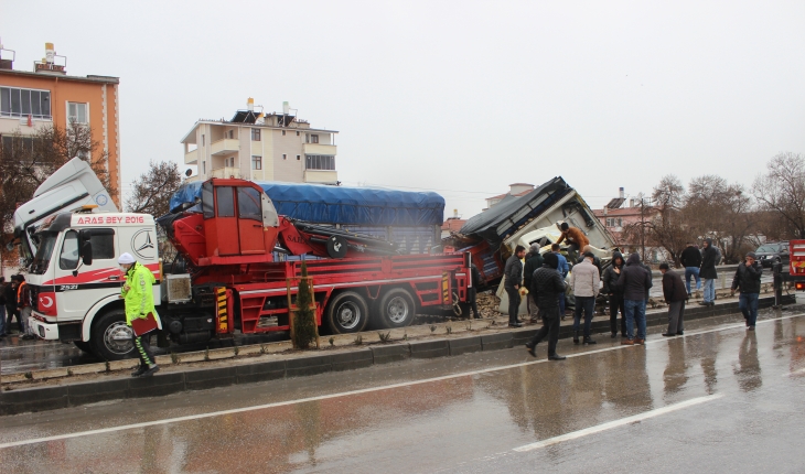
{"type": "Polygon", "coordinates": [[[339,130],[339,179],[465,218],[564,176],[600,207],[668,173],[751,184],[805,152],[805,2],[11,1],[30,69],[120,77],[124,191],[198,118],[283,100],[339,130]]]}

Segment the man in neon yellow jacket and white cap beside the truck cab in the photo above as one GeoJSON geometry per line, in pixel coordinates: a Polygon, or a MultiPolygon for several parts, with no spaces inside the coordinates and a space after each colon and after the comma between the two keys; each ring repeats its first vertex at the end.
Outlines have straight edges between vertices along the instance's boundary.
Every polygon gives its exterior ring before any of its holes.
{"type": "MultiPolygon", "coordinates": [[[[121,297],[126,301],[126,324],[131,326],[131,321],[137,317],[147,317],[149,313],[157,315],[157,309],[153,306],[153,292],[151,287],[157,281],[151,270],[142,263],[135,260],[131,254],[125,252],[117,259],[120,263],[126,282],[120,291],[121,297]]],[[[159,366],[151,353],[150,340],[151,334],[136,335],[132,332],[132,340],[137,348],[137,355],[140,357],[140,367],[131,373],[132,377],[149,377],[159,370],[159,366]]]]}

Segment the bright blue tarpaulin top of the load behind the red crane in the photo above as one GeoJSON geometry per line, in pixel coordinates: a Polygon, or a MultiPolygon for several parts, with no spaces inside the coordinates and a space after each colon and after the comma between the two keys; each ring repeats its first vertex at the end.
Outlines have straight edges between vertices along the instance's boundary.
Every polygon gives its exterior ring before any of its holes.
{"type": "MultiPolygon", "coordinates": [[[[426,226],[444,222],[444,198],[432,192],[326,186],[256,181],[277,213],[315,224],[426,226]]],[[[171,212],[201,198],[202,182],[183,184],[171,196],[171,212]]]]}

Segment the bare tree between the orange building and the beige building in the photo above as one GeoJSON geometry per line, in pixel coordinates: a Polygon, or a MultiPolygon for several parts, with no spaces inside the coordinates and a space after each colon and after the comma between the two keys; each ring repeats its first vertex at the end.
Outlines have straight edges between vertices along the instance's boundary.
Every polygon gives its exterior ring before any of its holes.
{"type": "Polygon", "coordinates": [[[151,161],[148,171],[135,183],[131,196],[126,201],[130,213],[151,214],[159,217],[170,211],[170,200],[182,184],[179,165],[173,161],[151,161]]]}

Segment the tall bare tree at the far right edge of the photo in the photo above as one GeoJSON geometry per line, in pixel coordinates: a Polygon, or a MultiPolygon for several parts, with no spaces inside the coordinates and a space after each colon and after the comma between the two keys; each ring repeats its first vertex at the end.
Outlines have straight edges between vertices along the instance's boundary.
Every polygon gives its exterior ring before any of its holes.
{"type": "Polygon", "coordinates": [[[790,237],[805,236],[805,155],[784,152],[772,158],[766,173],[752,184],[761,209],[775,214],[790,237]]]}

